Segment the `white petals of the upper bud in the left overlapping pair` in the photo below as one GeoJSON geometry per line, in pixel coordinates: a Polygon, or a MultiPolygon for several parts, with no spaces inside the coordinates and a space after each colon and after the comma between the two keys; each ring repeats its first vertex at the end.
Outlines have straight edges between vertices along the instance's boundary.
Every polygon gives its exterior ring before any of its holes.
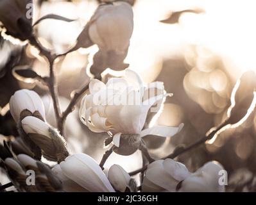
{"type": "Polygon", "coordinates": [[[31,114],[38,111],[43,119],[46,118],[44,104],[40,96],[32,90],[18,90],[10,99],[10,112],[15,122],[19,122],[23,110],[28,110],[31,114]]]}

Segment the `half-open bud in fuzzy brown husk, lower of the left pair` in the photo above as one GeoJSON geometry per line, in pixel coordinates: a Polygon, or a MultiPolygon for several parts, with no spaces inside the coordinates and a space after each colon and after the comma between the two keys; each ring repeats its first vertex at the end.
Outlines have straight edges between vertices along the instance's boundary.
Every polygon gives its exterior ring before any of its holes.
{"type": "Polygon", "coordinates": [[[21,121],[21,126],[28,137],[42,149],[47,160],[60,162],[69,156],[64,138],[46,122],[28,116],[21,121]]]}

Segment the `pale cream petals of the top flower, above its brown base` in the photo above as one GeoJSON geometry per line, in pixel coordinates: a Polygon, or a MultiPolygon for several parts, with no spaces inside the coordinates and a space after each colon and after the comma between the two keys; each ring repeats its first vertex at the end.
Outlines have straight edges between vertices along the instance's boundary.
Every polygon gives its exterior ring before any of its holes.
{"type": "Polygon", "coordinates": [[[101,51],[126,53],[133,32],[132,6],[121,1],[100,5],[90,19],[88,32],[101,51]]]}

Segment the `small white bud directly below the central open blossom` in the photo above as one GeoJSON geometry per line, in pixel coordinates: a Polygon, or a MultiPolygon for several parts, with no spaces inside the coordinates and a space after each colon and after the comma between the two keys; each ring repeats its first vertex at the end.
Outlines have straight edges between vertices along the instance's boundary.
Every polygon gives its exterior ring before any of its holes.
{"type": "Polygon", "coordinates": [[[115,190],[124,192],[130,183],[130,175],[119,165],[112,165],[108,170],[108,180],[115,190]]]}

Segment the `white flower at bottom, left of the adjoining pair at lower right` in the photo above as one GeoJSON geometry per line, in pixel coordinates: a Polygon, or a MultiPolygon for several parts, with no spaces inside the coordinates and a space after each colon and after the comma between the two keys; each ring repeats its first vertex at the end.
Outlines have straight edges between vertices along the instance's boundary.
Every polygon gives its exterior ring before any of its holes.
{"type": "Polygon", "coordinates": [[[142,192],[176,192],[176,186],[190,175],[187,167],[171,159],[157,160],[148,165],[142,192]]]}

